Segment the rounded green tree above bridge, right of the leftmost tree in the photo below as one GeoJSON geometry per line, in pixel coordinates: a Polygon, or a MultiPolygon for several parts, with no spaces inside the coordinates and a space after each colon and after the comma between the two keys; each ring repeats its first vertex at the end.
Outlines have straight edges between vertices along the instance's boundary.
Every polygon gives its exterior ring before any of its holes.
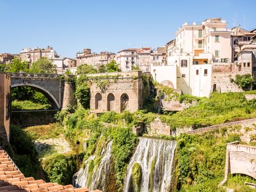
{"type": "Polygon", "coordinates": [[[38,74],[56,74],[57,71],[56,65],[53,64],[52,60],[43,57],[32,63],[30,72],[38,74]]]}

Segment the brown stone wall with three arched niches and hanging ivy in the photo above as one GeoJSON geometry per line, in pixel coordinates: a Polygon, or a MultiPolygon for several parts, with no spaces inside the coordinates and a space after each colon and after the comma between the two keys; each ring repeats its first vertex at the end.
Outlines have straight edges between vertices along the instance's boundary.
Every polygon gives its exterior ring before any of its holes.
{"type": "Polygon", "coordinates": [[[88,77],[92,110],[120,113],[124,110],[134,112],[141,109],[143,105],[142,72],[111,72],[90,74],[88,77]]]}

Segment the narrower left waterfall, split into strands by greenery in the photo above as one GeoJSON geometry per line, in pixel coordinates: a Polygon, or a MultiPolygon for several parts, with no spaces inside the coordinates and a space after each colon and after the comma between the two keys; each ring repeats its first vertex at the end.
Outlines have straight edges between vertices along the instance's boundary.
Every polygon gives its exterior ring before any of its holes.
{"type": "Polygon", "coordinates": [[[113,141],[110,141],[107,147],[102,149],[100,164],[98,167],[93,167],[92,173],[90,173],[90,163],[95,159],[95,156],[90,156],[84,161],[84,168],[81,168],[74,175],[73,184],[76,188],[87,187],[90,190],[100,189],[106,191],[109,182],[109,172],[111,172],[112,143],[113,141]]]}

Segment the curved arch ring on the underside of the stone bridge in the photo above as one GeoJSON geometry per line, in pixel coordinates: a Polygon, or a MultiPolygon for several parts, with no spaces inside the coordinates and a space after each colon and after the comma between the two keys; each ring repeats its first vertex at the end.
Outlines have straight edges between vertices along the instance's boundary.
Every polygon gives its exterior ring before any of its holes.
{"type": "Polygon", "coordinates": [[[51,92],[45,90],[45,88],[42,88],[42,86],[38,86],[37,84],[31,84],[31,83],[15,83],[11,85],[11,88],[17,87],[17,86],[29,86],[31,88],[34,88],[36,91],[42,93],[45,95],[45,97],[49,100],[51,103],[52,108],[55,109],[61,109],[61,106],[58,102],[58,100],[52,95],[51,92]]]}

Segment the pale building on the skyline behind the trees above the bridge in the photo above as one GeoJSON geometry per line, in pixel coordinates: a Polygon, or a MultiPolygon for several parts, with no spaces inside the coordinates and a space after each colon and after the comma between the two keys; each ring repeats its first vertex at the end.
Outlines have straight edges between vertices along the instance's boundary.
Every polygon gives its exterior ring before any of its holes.
{"type": "Polygon", "coordinates": [[[42,57],[49,58],[51,60],[54,60],[55,58],[60,58],[57,52],[54,51],[54,49],[52,49],[52,47],[50,46],[46,47],[45,49],[41,49],[38,47],[35,47],[33,49],[25,48],[20,51],[20,58],[23,61],[28,61],[29,63],[34,63],[42,57]]]}

